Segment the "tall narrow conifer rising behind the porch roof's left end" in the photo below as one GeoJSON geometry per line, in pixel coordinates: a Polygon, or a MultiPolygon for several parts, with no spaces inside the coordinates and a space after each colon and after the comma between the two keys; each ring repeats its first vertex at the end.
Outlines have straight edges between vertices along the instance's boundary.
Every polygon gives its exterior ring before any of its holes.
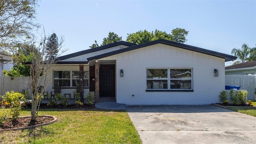
{"type": "Polygon", "coordinates": [[[47,59],[54,59],[58,55],[58,48],[59,48],[59,42],[58,42],[58,36],[53,33],[51,36],[47,38],[48,42],[46,44],[46,52],[47,52],[47,59]]]}

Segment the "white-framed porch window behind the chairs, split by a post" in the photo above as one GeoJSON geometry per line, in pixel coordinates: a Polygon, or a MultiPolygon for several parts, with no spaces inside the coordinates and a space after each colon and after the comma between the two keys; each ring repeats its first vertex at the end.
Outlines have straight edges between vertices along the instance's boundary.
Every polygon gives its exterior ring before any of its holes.
{"type": "MultiPolygon", "coordinates": [[[[54,86],[76,87],[79,84],[79,71],[54,71],[54,86]]],[[[89,71],[84,71],[84,87],[89,87],[89,71]]]]}

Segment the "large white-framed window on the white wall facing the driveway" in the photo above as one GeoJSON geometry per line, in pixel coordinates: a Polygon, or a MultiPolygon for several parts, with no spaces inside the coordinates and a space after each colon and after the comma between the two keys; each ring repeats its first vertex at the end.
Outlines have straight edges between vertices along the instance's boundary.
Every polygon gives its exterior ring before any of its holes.
{"type": "Polygon", "coordinates": [[[147,69],[147,89],[192,90],[192,68],[147,69]]]}

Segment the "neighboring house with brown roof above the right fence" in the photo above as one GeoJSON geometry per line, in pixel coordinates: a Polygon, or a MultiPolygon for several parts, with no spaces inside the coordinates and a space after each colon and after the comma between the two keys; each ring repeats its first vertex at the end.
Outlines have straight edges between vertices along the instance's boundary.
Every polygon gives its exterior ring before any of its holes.
{"type": "Polygon", "coordinates": [[[256,61],[242,62],[225,67],[225,74],[256,74],[256,61]]]}

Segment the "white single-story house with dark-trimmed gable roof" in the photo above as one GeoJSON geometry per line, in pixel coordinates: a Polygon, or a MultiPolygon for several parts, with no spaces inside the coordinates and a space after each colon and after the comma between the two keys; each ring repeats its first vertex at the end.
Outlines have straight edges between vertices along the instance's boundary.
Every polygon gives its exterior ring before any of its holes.
{"type": "Polygon", "coordinates": [[[95,92],[96,102],[114,97],[128,105],[218,103],[225,90],[225,62],[235,59],[168,40],[120,41],[59,57],[46,91],[62,86],[63,94],[72,94],[81,80],[84,97],[95,92]]]}

